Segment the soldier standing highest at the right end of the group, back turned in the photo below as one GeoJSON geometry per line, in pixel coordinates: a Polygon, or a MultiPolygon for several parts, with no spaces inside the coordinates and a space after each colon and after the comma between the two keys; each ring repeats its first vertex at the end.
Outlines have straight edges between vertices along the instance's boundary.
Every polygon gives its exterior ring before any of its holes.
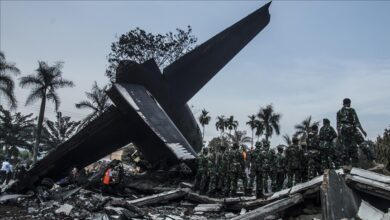
{"type": "Polygon", "coordinates": [[[358,129],[364,136],[367,136],[359,122],[355,109],[351,108],[351,100],[345,98],[343,107],[337,112],[337,132],[343,147],[345,165],[357,165],[358,145],[364,141],[358,129]]]}

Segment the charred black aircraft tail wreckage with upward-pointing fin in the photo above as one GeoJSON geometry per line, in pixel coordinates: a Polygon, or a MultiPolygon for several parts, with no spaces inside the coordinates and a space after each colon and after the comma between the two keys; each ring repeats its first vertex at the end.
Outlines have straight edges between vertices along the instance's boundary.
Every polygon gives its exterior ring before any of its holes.
{"type": "Polygon", "coordinates": [[[187,105],[270,21],[264,5],[159,70],[154,60],[122,61],[107,91],[113,105],[35,164],[19,190],[40,179],[58,180],[72,167],[83,168],[128,143],[152,164],[191,164],[202,147],[201,132],[187,105]]]}

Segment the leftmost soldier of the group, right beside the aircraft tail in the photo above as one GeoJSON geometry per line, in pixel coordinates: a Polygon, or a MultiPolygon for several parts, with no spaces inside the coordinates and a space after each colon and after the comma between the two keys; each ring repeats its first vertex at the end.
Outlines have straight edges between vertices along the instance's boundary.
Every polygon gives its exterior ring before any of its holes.
{"type": "Polygon", "coordinates": [[[204,193],[208,178],[208,148],[203,148],[198,157],[198,171],[195,176],[194,189],[204,193]]]}

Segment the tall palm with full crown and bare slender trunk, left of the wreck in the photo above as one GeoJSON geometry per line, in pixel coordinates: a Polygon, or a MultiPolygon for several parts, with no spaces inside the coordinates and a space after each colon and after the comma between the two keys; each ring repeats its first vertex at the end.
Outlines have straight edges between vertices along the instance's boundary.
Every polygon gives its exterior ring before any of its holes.
{"type": "Polygon", "coordinates": [[[33,149],[33,162],[37,161],[38,146],[41,139],[43,119],[45,116],[46,100],[52,101],[56,111],[60,105],[60,98],[57,94],[57,89],[65,87],[73,87],[74,84],[70,80],[62,78],[62,62],[56,62],[53,66],[49,66],[44,61],[38,61],[39,67],[36,69],[36,75],[28,75],[20,78],[20,86],[22,88],[32,87],[30,95],[27,97],[26,105],[32,104],[37,99],[41,99],[41,107],[39,109],[38,125],[36,132],[35,145],[33,149]]]}

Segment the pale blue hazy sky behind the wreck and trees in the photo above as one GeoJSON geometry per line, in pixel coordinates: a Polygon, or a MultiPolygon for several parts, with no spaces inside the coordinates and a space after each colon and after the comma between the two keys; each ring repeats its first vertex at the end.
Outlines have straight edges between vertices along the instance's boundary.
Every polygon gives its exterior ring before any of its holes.
{"type": "MultiPolygon", "coordinates": [[[[64,61],[63,77],[74,88],[60,89],[60,111],[74,120],[89,112],[85,100],[104,76],[110,45],[140,27],[166,33],[191,25],[198,44],[266,4],[266,1],[0,1],[0,50],[22,75],[38,60],[64,61]]],[[[219,134],[216,117],[233,115],[247,130],[248,115],[273,104],[282,115],[281,134],[308,116],[329,118],[345,97],[352,99],[368,138],[390,125],[390,1],[274,1],[271,21],[190,101],[195,116],[210,112],[205,139],[219,134]]],[[[17,88],[18,111],[28,89],[17,88]]],[[[174,97],[172,97],[174,98],[174,97]]],[[[1,103],[4,99],[1,99],[1,103]]],[[[54,106],[46,116],[53,119],[54,106]]],[[[283,143],[274,135],[271,145],[283,143]]]]}

